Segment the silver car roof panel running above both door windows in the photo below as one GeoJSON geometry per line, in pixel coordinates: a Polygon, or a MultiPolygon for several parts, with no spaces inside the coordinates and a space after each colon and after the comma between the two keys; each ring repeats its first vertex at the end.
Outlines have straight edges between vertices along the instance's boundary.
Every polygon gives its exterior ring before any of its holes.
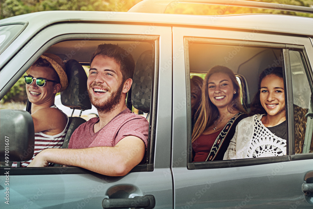
{"type": "Polygon", "coordinates": [[[153,24],[194,28],[214,27],[230,30],[254,30],[257,28],[259,32],[305,36],[312,36],[313,34],[313,27],[308,27],[313,25],[313,18],[280,14],[200,16],[133,12],[44,11],[5,18],[1,20],[1,25],[27,23],[26,29],[33,31],[34,34],[46,26],[62,22],[114,22],[119,24],[153,24]]]}

